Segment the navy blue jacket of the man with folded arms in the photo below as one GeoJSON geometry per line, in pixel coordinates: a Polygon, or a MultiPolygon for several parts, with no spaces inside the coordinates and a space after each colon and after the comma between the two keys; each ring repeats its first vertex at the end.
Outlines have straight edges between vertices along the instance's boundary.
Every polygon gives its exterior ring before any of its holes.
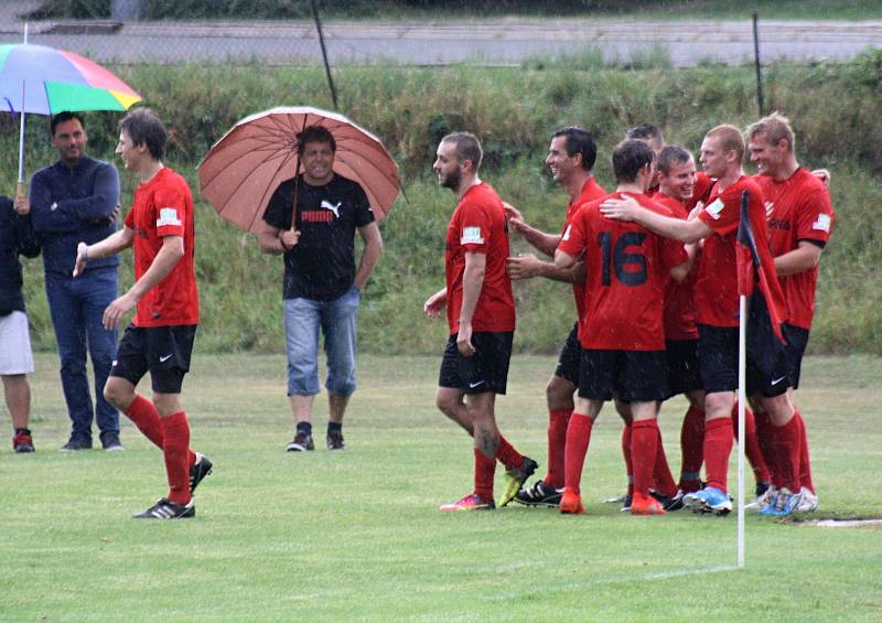
{"type": "MultiPolygon", "coordinates": [[[[69,277],[78,243],[93,245],[117,230],[112,216],[119,204],[119,173],[112,164],[88,155],[73,169],[58,161],[31,178],[30,200],[46,272],[69,277]]],[[[116,266],[119,257],[112,255],[89,261],[86,270],[116,266]]]]}

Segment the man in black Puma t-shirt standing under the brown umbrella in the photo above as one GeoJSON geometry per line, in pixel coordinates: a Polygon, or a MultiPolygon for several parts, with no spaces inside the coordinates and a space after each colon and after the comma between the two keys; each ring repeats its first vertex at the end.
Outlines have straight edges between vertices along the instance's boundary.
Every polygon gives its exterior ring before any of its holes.
{"type": "Polygon", "coordinates": [[[343,415],[355,391],[355,321],[361,292],[383,251],[367,195],[334,173],[336,142],[325,128],[300,132],[303,174],[282,182],[263,214],[260,248],[284,254],[288,397],[297,431],[289,452],[313,450],[312,404],[319,394],[319,331],[327,355],[327,448],[342,450],[343,415]],[[294,208],[297,204],[297,208],[294,208]],[[356,269],[355,232],[365,243],[356,269]]]}

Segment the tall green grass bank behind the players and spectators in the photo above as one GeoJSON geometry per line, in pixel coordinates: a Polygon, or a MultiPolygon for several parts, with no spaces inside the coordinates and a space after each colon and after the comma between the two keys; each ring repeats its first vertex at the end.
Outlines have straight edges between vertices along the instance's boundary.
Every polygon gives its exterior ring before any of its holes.
{"type": "MultiPolygon", "coordinates": [[[[248,114],[282,104],[330,108],[324,76],[316,68],[258,64],[115,69],[166,120],[172,135],[168,161],[194,189],[203,301],[200,347],[280,352],[281,260],[261,255],[254,237],[217,218],[198,197],[195,165],[248,114]]],[[[609,154],[625,129],[639,121],[660,125],[669,142],[696,150],[708,128],[755,120],[754,78],[746,67],[346,66],[335,71],[335,78],[342,111],[383,138],[401,168],[408,197],[399,198],[381,223],[386,250],[363,299],[361,344],[376,353],[433,352],[443,339],[443,323],[421,320],[424,298],[443,283],[444,227],[455,203],[430,171],[443,135],[458,129],[477,133],[486,149],[482,176],[530,222],[557,230],[567,201],[542,164],[555,129],[579,123],[594,132],[600,147],[595,172],[612,187],[609,154]]],[[[779,65],[767,76],[767,107],[792,118],[800,162],[833,173],[838,226],[821,260],[811,341],[816,352],[882,353],[882,283],[876,272],[882,264],[882,185],[876,178],[882,172],[881,90],[879,51],[848,64],[779,65]]],[[[108,114],[89,116],[93,154],[112,160],[116,120],[108,114]]],[[[32,117],[29,122],[28,170],[33,172],[55,154],[45,120],[32,117]]],[[[15,153],[17,142],[14,119],[4,116],[0,149],[15,153]]],[[[122,202],[129,205],[133,180],[122,176],[122,202]]],[[[12,191],[14,167],[0,170],[0,183],[12,191]]],[[[527,249],[515,240],[514,250],[527,249]]],[[[123,283],[130,282],[130,258],[121,272],[123,283]]],[[[52,348],[39,261],[28,262],[25,280],[34,343],[52,348]]],[[[556,351],[573,320],[569,289],[537,281],[518,283],[516,293],[517,347],[556,351]]]]}

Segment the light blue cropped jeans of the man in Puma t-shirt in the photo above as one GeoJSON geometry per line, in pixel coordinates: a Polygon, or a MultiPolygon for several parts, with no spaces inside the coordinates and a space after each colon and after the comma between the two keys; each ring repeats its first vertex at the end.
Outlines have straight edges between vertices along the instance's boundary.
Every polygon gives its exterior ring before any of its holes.
{"type": "Polygon", "coordinates": [[[361,292],[353,286],[333,301],[284,300],[288,395],[319,394],[319,330],[327,356],[325,388],[337,396],[355,391],[355,319],[361,292]]]}

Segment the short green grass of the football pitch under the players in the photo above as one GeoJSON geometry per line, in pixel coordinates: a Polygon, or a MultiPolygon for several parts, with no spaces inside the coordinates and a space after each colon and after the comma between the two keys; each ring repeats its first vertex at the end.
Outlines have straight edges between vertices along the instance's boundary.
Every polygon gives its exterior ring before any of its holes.
{"type": "MultiPolygon", "coordinates": [[[[283,359],[197,357],[185,404],[193,447],[215,472],[194,520],[153,523],[129,515],[164,494],[159,452],[128,422],[125,453],[57,452],[67,432],[57,359],[39,355],[37,452],[0,451],[0,620],[882,619],[882,531],[749,515],[736,570],[734,516],[637,518],[602,504],[624,487],[610,408],[589,450],[587,515],[439,513],[470,491],[472,451],[434,409],[437,364],[362,357],[349,449],[287,454],[283,359]]],[[[540,471],[552,364],[515,357],[498,402],[503,431],[540,471]]],[[[799,402],[821,500],[811,519],[882,514],[880,377],[879,358],[806,362],[799,402]]],[[[675,470],[684,410],[675,400],[663,412],[675,470]]]]}

